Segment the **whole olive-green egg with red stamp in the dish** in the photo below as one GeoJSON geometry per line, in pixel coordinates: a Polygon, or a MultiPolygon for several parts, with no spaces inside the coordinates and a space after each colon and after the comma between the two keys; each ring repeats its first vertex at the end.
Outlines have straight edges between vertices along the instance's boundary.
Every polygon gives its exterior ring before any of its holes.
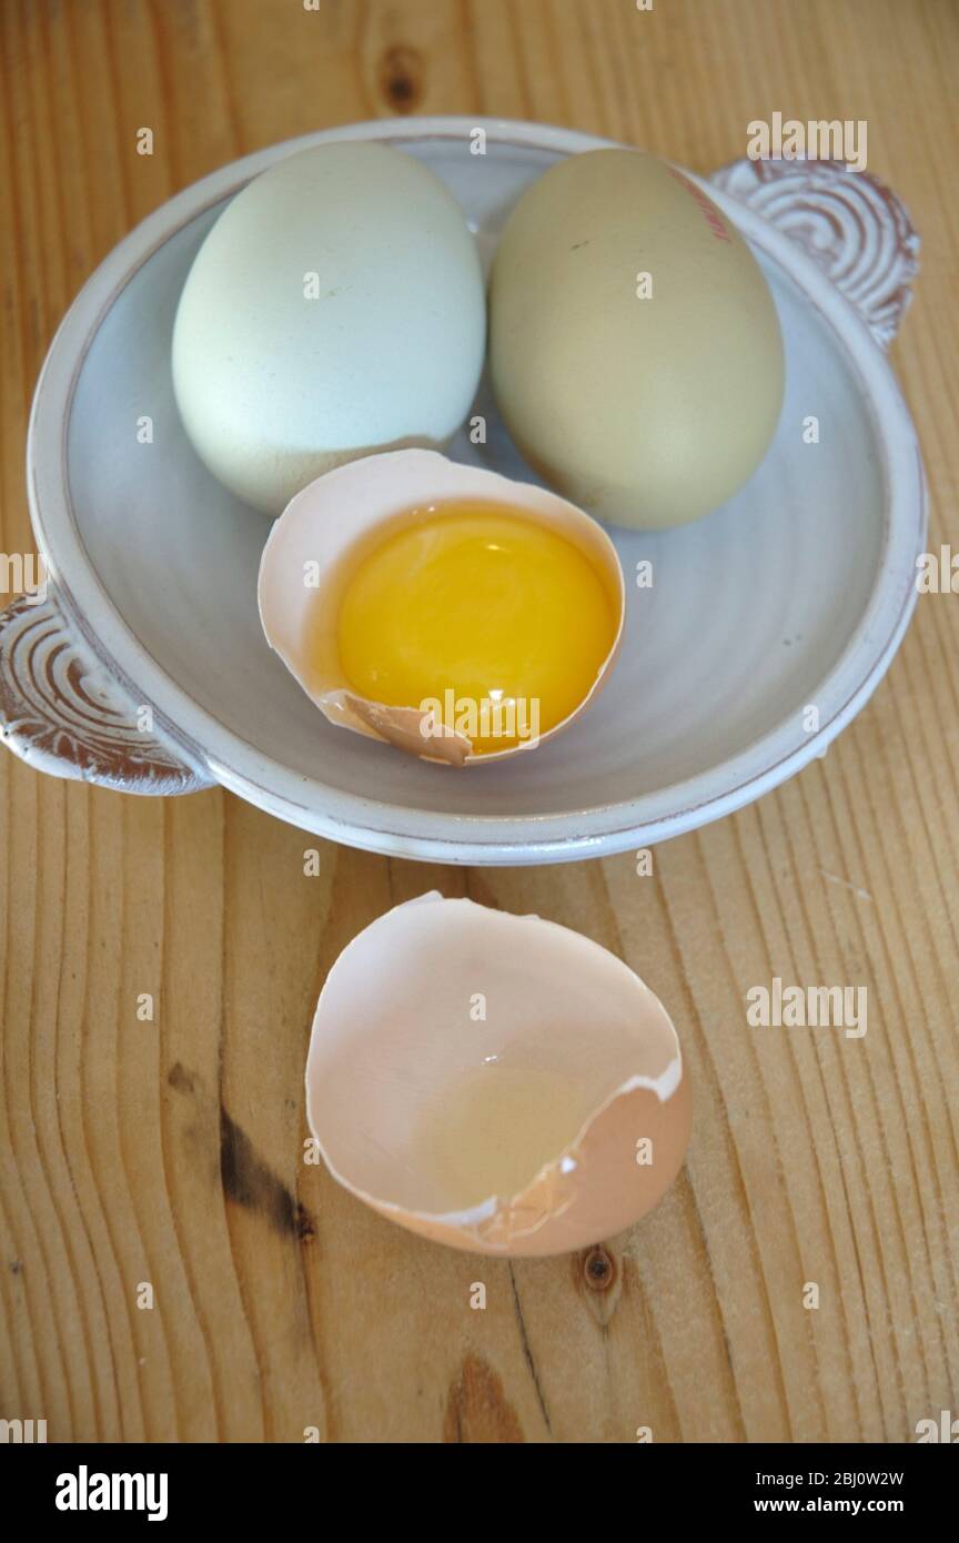
{"type": "Polygon", "coordinates": [[[570,156],[512,210],[490,369],[530,466],[632,529],[729,498],[783,395],[776,304],[749,247],[697,184],[635,150],[570,156]]]}

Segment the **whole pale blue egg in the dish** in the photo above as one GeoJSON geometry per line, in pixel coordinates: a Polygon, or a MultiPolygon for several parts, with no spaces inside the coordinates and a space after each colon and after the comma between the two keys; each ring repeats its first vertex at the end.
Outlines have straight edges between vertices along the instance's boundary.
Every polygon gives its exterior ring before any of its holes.
{"type": "Polygon", "coordinates": [[[173,387],[214,477],[278,515],[344,461],[442,446],[484,341],[476,245],[439,177],[385,145],[318,145],[254,177],[207,235],[173,387]]]}

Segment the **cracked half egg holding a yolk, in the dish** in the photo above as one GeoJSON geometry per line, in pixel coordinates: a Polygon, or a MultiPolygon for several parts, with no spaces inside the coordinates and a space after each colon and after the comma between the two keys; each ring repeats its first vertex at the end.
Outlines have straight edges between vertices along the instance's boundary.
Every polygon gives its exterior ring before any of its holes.
{"type": "Polygon", "coordinates": [[[456,767],[527,753],[578,719],[626,606],[595,520],[435,451],[304,488],[257,588],[267,642],[331,724],[456,767]]]}

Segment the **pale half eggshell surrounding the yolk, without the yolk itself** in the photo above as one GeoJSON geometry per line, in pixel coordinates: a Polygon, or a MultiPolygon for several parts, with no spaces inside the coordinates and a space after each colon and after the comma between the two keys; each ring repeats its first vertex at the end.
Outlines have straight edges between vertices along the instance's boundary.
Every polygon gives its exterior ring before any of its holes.
{"type": "Polygon", "coordinates": [[[447,460],[436,451],[392,451],[339,466],[298,492],[274,523],[259,568],[259,614],[270,647],[325,717],[339,728],[379,739],[424,761],[469,765],[501,761],[535,748],[566,728],[609,676],[623,636],[626,593],[615,546],[597,522],[530,483],[447,460]],[[430,716],[419,704],[390,707],[353,691],[338,645],[342,586],[364,551],[392,534],[398,515],[475,498],[506,505],[574,542],[609,589],[617,617],[606,660],[580,705],[537,741],[475,755],[466,733],[426,733],[430,716]]]}

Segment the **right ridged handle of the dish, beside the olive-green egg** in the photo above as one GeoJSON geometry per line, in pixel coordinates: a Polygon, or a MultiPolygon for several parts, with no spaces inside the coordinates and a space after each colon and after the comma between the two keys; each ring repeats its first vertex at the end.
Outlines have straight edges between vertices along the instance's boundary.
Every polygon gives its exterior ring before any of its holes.
{"type": "Polygon", "coordinates": [[[888,349],[919,272],[919,235],[891,188],[843,160],[743,157],[709,181],[791,236],[888,349]]]}

